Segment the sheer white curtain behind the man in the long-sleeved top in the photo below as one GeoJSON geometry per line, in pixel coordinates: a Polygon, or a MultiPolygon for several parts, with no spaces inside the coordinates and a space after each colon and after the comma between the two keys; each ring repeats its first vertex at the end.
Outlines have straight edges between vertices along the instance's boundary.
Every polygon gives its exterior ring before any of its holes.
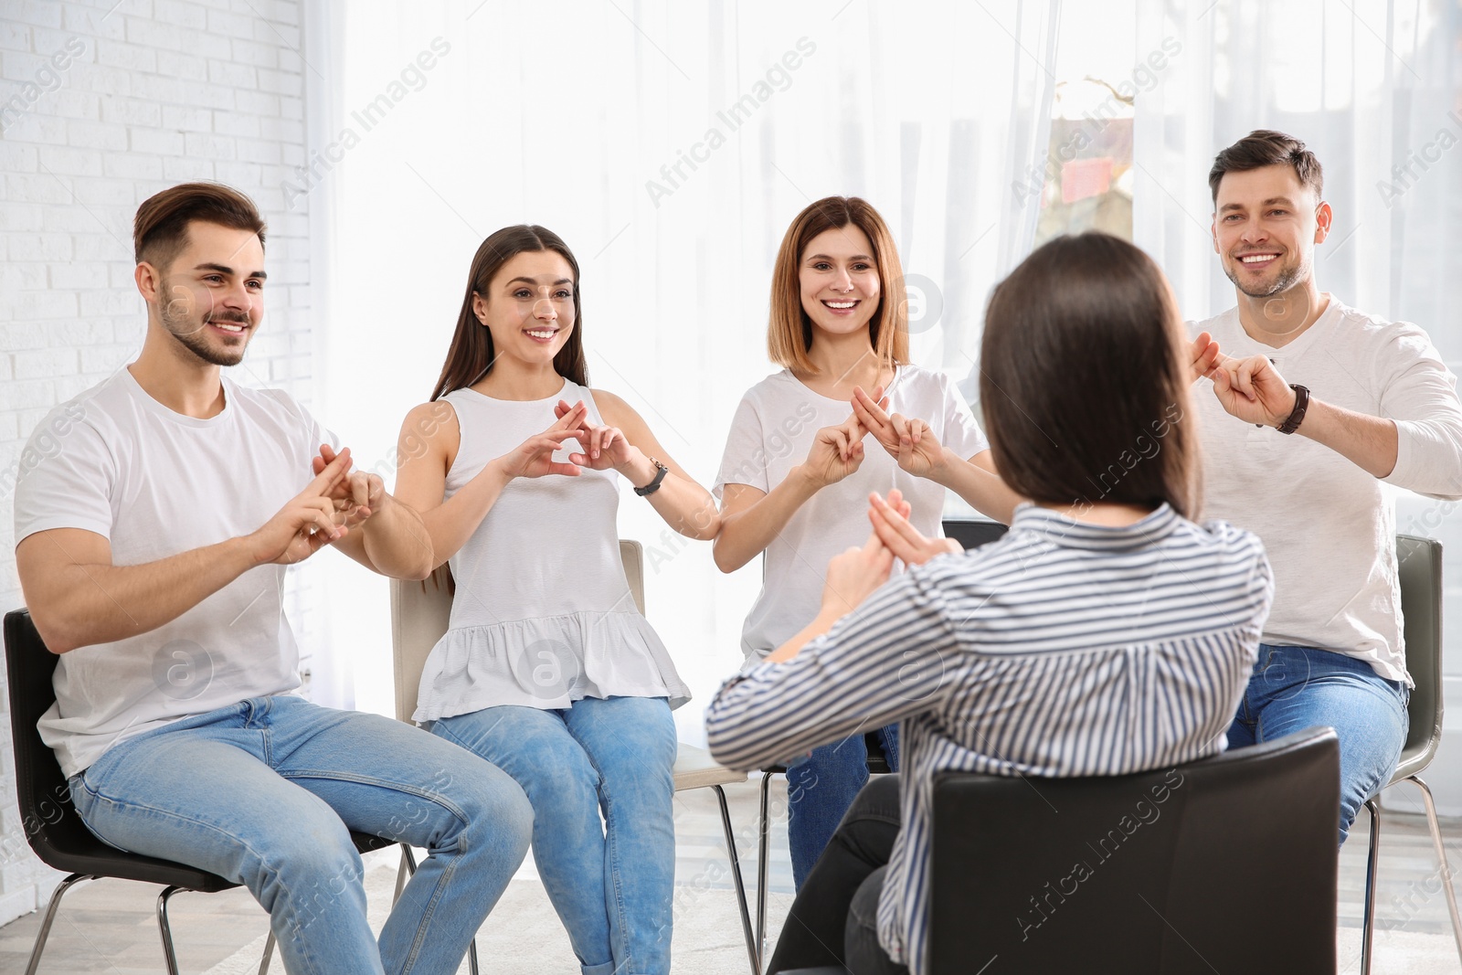
{"type": "MultiPolygon", "coordinates": [[[[1279,129],[1325,167],[1335,228],[1316,250],[1320,288],[1418,323],[1462,373],[1462,3],[1139,0],[1137,10],[1139,50],[1165,39],[1183,48],[1161,85],[1137,95],[1133,231],[1184,314],[1234,304],[1209,237],[1213,155],[1251,129],[1279,129]]],[[[1402,496],[1396,517],[1402,532],[1443,539],[1453,579],[1462,570],[1455,509],[1402,496]]],[[[1462,601],[1449,595],[1446,608],[1455,620],[1462,601]]],[[[1456,637],[1446,659],[1458,700],[1456,637]]],[[[1462,813],[1462,748],[1444,746],[1434,767],[1439,803],[1462,813]]]]}

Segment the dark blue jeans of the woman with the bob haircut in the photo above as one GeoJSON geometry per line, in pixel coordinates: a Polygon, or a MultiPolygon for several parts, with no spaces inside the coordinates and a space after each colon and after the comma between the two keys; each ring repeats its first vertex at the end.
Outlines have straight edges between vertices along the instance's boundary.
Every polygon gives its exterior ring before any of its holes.
{"type": "MultiPolygon", "coordinates": [[[[899,726],[887,725],[874,734],[889,766],[898,772],[899,726]]],[[[787,845],[792,851],[792,884],[798,890],[867,782],[868,748],[861,731],[788,763],[787,845]]]]}

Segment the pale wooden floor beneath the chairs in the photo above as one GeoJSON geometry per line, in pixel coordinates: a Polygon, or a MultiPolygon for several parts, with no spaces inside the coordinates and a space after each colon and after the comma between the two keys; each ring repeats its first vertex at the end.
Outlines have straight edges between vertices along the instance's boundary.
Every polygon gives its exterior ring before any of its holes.
{"type": "MultiPolygon", "coordinates": [[[[784,810],[785,785],[773,779],[781,795],[773,794],[772,810],[784,810]]],[[[731,819],[737,829],[737,848],[749,895],[756,879],[756,804],[754,784],[727,786],[731,819]]],[[[785,819],[773,824],[770,883],[772,890],[791,892],[791,864],[787,860],[785,819]]],[[[677,795],[675,880],[683,887],[728,887],[721,816],[709,789],[677,795]]],[[[1462,873],[1462,820],[1443,824],[1444,842],[1455,868],[1462,873]]],[[[1361,890],[1366,880],[1366,820],[1357,822],[1354,841],[1341,852],[1339,924],[1354,931],[1360,949],[1361,890]]],[[[389,851],[373,857],[390,857],[389,851]]],[[[531,876],[525,865],[520,876],[531,876]]],[[[1462,883],[1459,883],[1462,886],[1462,883]]],[[[155,921],[156,889],[142,884],[98,880],[75,887],[63,902],[39,969],[41,975],[156,975],[162,971],[155,921]]],[[[1383,833],[1377,917],[1385,928],[1424,933],[1449,933],[1446,899],[1437,886],[1437,862],[1425,820],[1418,816],[1389,813],[1383,833]]],[[[23,917],[0,928],[0,972],[22,972],[39,930],[39,914],[23,917]]],[[[224,960],[266,931],[265,915],[243,890],[216,895],[180,893],[170,908],[178,963],[183,972],[202,972],[224,960]]],[[[278,971],[278,963],[275,971],[278,971]]],[[[1341,972],[1358,972],[1354,952],[1342,952],[1341,972]]],[[[1462,971],[1462,965],[1458,966],[1462,971]]]]}

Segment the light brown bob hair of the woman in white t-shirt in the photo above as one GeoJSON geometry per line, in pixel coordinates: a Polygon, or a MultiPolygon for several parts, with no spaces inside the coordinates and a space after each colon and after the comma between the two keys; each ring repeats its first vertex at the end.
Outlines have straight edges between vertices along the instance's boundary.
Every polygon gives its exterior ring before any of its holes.
{"type": "Polygon", "coordinates": [[[766,352],[782,368],[816,376],[807,351],[813,346],[813,323],[803,310],[798,270],[803,253],[814,237],[829,229],[854,225],[873,244],[879,269],[879,307],[868,319],[868,341],[880,365],[902,365],[909,360],[909,310],[904,292],[904,269],[893,246],[893,234],[879,212],[857,196],[829,196],[810,205],[782,237],[772,269],[772,313],[766,326],[766,352]]]}

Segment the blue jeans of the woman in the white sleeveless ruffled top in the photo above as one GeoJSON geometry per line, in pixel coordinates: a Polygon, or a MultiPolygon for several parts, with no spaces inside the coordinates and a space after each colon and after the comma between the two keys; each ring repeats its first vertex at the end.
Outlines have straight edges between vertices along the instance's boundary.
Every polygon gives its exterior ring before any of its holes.
{"type": "Polygon", "coordinates": [[[431,732],[528,792],[534,862],[583,975],[667,975],[678,746],[665,699],[500,705],[442,718],[431,732]]]}

